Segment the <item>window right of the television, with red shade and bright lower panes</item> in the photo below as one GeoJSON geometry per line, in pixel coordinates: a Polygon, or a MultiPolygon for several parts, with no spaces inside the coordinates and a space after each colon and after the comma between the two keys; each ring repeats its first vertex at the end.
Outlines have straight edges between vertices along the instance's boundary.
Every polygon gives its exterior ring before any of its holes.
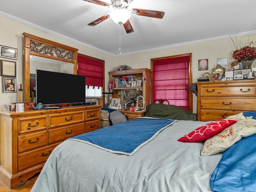
{"type": "Polygon", "coordinates": [[[78,54],[78,75],[86,76],[86,98],[101,98],[104,90],[104,61],[78,54]]]}

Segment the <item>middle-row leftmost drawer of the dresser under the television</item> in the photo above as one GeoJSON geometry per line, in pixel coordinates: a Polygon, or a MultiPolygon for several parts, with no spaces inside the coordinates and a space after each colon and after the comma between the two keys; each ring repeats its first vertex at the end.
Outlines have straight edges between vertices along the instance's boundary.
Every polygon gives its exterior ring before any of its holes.
{"type": "Polygon", "coordinates": [[[34,149],[47,144],[47,131],[18,136],[18,152],[34,149]]]}

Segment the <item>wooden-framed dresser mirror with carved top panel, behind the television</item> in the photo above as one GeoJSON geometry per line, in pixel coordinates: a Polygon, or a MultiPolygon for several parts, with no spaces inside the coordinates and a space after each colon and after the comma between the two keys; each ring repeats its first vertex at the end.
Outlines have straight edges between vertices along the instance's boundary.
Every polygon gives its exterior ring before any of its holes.
{"type": "Polygon", "coordinates": [[[31,101],[34,93],[36,69],[77,74],[78,49],[31,34],[23,33],[23,35],[25,37],[24,102],[28,102],[31,101]]]}

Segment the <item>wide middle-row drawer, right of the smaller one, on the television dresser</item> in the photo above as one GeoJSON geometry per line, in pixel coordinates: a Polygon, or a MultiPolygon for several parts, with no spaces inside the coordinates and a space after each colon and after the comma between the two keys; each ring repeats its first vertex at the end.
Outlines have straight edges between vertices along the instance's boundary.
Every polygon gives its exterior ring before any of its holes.
{"type": "Polygon", "coordinates": [[[67,126],[49,130],[49,143],[65,140],[85,132],[85,124],[67,126]]]}

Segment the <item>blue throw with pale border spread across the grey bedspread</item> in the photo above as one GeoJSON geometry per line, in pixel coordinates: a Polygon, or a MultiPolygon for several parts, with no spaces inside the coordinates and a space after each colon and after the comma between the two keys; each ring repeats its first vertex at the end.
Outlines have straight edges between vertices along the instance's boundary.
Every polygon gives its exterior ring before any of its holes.
{"type": "Polygon", "coordinates": [[[137,118],[69,139],[83,140],[109,152],[132,155],[174,122],[168,119],[137,118]]]}

